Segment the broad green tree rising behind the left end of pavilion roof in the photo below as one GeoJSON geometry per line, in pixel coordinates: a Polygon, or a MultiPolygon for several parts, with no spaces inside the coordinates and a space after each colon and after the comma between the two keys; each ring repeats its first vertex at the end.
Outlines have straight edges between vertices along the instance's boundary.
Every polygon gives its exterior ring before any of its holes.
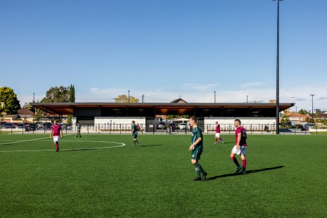
{"type": "Polygon", "coordinates": [[[70,100],[70,87],[51,87],[46,91],[46,97],[41,100],[41,103],[63,103],[70,100]]]}

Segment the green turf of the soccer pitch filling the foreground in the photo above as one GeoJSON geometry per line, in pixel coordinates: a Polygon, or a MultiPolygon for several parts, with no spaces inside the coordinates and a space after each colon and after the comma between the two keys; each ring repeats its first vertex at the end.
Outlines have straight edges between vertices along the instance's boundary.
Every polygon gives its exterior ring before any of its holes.
{"type": "Polygon", "coordinates": [[[51,150],[0,152],[0,217],[327,216],[327,136],[250,135],[246,175],[234,174],[233,135],[223,138],[204,135],[207,180],[192,181],[190,135],[141,135],[141,147],[130,135],[66,135],[58,153],[44,134],[0,135],[0,151],[51,150]],[[126,146],[84,150],[117,146],[97,141],[126,146]]]}

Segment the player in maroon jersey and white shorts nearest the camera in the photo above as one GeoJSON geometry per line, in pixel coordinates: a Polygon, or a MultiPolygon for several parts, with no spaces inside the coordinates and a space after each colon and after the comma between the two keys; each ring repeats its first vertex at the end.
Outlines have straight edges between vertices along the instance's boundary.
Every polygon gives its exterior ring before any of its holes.
{"type": "Polygon", "coordinates": [[[231,150],[231,160],[236,164],[236,173],[240,172],[243,168],[242,173],[246,174],[246,160],[245,160],[245,154],[246,154],[246,130],[244,127],[241,126],[241,120],[234,120],[234,126],[236,127],[235,131],[235,143],[236,145],[233,147],[233,150],[231,150]],[[235,155],[241,155],[242,160],[242,167],[238,163],[235,155]]]}

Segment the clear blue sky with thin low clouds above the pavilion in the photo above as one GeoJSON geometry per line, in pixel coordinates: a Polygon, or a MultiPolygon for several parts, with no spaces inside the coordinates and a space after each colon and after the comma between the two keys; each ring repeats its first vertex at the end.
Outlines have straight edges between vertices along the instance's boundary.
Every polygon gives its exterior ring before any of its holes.
{"type": "MultiPolygon", "coordinates": [[[[280,102],[327,110],[327,1],[280,1],[280,102]]],[[[23,105],[51,86],[77,102],[276,99],[271,0],[0,0],[0,86],[23,105]]]]}

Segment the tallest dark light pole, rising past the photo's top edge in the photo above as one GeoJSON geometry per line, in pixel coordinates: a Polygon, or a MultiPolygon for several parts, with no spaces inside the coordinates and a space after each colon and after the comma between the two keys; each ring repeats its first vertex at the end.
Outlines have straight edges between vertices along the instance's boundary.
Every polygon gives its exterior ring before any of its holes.
{"type": "Polygon", "coordinates": [[[276,134],[279,134],[279,1],[277,1],[277,58],[276,58],[276,134]]]}

